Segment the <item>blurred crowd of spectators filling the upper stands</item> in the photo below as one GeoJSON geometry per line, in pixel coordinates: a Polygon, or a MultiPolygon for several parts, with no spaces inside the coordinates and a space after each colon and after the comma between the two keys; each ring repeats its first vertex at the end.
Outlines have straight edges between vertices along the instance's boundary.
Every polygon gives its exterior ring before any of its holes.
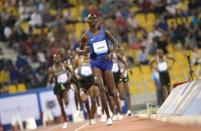
{"type": "Polygon", "coordinates": [[[200,0],[77,0],[76,3],[68,0],[3,1],[0,40],[14,49],[18,57],[16,62],[4,59],[0,50],[0,88],[17,83],[25,83],[30,88],[44,87],[52,54],[67,54],[79,47],[77,30],[66,25],[74,27],[84,23],[89,13],[95,13],[120,44],[139,48],[136,62],[140,64],[148,64],[148,55],[153,55],[158,48],[168,53],[169,43],[183,49],[201,48],[200,0]],[[84,5],[82,15],[74,18],[70,9],[80,4],[84,5]],[[132,7],[137,8],[131,10],[132,7]],[[50,12],[52,9],[56,12],[50,12]],[[156,16],[152,31],[147,31],[136,20],[138,14],[146,16],[148,13],[156,16]],[[189,16],[192,17],[190,22],[189,16]],[[167,23],[168,19],[178,17],[184,19],[177,26],[167,23]],[[21,27],[24,22],[28,23],[25,31],[21,27]]]}

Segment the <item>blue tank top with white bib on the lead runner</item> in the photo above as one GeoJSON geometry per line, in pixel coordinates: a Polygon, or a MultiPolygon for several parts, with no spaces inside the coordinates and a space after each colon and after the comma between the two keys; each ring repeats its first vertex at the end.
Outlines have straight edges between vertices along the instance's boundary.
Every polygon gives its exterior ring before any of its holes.
{"type": "Polygon", "coordinates": [[[93,35],[91,31],[87,32],[88,34],[88,46],[90,49],[90,58],[92,60],[102,59],[109,52],[108,40],[105,36],[105,28],[100,27],[99,33],[93,35]]]}

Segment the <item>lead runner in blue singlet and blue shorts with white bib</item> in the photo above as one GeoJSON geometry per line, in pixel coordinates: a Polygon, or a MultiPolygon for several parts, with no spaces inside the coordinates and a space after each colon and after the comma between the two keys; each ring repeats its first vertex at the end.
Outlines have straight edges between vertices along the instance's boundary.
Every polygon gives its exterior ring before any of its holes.
{"type": "Polygon", "coordinates": [[[90,53],[90,64],[95,79],[96,85],[100,88],[100,97],[102,106],[107,115],[107,125],[112,125],[112,119],[109,115],[104,81],[109,87],[110,96],[114,97],[115,84],[112,73],[112,58],[111,55],[116,50],[118,42],[102,25],[98,28],[98,18],[95,14],[89,14],[87,22],[89,31],[81,38],[80,53],[90,53]],[[111,41],[113,48],[109,48],[108,41],[111,41]]]}

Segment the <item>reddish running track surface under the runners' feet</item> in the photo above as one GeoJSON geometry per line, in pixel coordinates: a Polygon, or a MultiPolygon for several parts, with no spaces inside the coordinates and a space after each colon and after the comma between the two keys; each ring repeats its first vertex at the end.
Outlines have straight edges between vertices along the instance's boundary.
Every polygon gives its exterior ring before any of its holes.
{"type": "Polygon", "coordinates": [[[147,118],[126,117],[121,121],[113,121],[113,125],[106,126],[106,123],[97,122],[96,125],[83,123],[69,123],[67,129],[62,125],[40,128],[37,131],[201,131],[200,126],[187,126],[171,124],[147,118]]]}

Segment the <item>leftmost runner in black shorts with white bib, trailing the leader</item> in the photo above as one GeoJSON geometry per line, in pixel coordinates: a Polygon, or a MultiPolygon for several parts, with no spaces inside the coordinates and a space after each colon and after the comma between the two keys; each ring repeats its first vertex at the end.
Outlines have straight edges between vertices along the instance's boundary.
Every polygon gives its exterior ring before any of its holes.
{"type": "Polygon", "coordinates": [[[55,54],[54,64],[48,70],[48,84],[55,83],[54,94],[60,105],[61,113],[64,119],[63,128],[67,128],[67,115],[64,110],[64,104],[68,106],[68,90],[70,89],[71,73],[67,62],[62,62],[61,54],[55,54]]]}

